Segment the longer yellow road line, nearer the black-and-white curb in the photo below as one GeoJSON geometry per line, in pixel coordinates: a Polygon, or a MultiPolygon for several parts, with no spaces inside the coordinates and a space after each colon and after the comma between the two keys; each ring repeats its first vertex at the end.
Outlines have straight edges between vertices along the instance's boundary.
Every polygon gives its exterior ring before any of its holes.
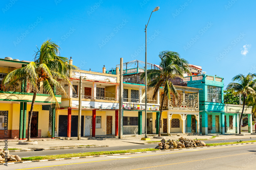
{"type": "MultiPolygon", "coordinates": [[[[256,145],[256,144],[249,144],[249,145],[256,145]]],[[[238,145],[237,145],[237,146],[238,146],[238,145]]],[[[231,148],[231,147],[237,147],[237,146],[229,146],[229,147],[221,147],[221,148],[231,148]]],[[[242,145],[242,146],[247,146],[247,145],[242,145]]],[[[200,149],[200,150],[192,150],[192,149],[191,149],[191,151],[184,151],[184,152],[202,151],[202,150],[210,150],[210,149],[221,149],[221,148],[209,148],[209,149],[200,149]]],[[[156,155],[136,156],[136,157],[130,157],[130,158],[140,158],[140,157],[146,157],[146,156],[167,155],[167,154],[174,154],[174,153],[183,153],[183,152],[173,152],[173,153],[163,153],[163,154],[156,154],[156,155]]],[[[80,163],[63,164],[63,165],[42,166],[42,167],[25,168],[25,169],[46,168],[46,167],[53,167],[53,166],[74,165],[74,164],[83,164],[83,163],[92,163],[92,162],[102,162],[102,161],[112,161],[112,160],[120,160],[120,159],[129,159],[129,158],[109,159],[109,160],[91,161],[91,162],[80,162],[80,163]]],[[[209,159],[210,159],[210,158],[209,158],[209,159]]],[[[17,170],[23,170],[23,169],[17,169],[17,170]]]]}

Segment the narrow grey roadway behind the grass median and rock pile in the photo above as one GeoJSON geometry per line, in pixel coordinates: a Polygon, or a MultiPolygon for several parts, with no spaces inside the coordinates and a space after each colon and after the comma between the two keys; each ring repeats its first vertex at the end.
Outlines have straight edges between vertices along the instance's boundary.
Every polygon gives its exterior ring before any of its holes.
{"type": "MultiPolygon", "coordinates": [[[[242,139],[243,141],[256,140],[256,138],[242,139]]],[[[220,142],[234,142],[238,139],[229,139],[229,140],[208,140],[205,143],[220,143],[220,142]]],[[[32,151],[32,152],[17,152],[16,154],[20,158],[29,157],[29,156],[44,156],[44,155],[56,155],[56,154],[65,154],[65,153],[84,153],[84,152],[99,152],[99,151],[116,151],[116,150],[127,150],[127,149],[144,149],[144,148],[155,148],[156,143],[146,144],[146,145],[130,145],[130,146],[115,146],[115,147],[103,147],[103,148],[78,148],[78,149],[63,149],[63,150],[43,150],[43,151],[32,151]]],[[[15,152],[13,152],[14,154],[15,152]]]]}

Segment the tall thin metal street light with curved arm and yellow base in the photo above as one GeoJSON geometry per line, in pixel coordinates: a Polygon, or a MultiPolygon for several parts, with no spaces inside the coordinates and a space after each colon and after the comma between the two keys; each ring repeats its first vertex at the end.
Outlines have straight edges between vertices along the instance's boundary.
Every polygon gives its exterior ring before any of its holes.
{"type": "MultiPolygon", "coordinates": [[[[152,12],[158,11],[159,6],[155,7],[155,9],[152,12]]],[[[152,12],[150,14],[150,17],[152,15],[152,12]]],[[[150,20],[150,17],[148,19],[148,22],[150,20]]],[[[146,24],[146,28],[145,28],[145,33],[146,33],[146,51],[145,51],[145,138],[147,138],[147,25],[148,22],[146,24]]]]}

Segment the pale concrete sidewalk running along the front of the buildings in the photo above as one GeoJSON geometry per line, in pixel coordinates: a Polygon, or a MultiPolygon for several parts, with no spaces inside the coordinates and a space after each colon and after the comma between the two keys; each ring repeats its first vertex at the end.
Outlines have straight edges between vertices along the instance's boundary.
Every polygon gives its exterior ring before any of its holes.
{"type": "MultiPolygon", "coordinates": [[[[246,133],[244,133],[246,134],[246,133]]],[[[155,135],[156,136],[156,135],[155,135]]],[[[245,136],[236,136],[234,134],[230,135],[220,135],[220,134],[210,134],[210,135],[193,135],[193,136],[165,136],[166,140],[168,139],[179,139],[180,137],[186,137],[189,139],[204,139],[204,140],[227,140],[227,139],[243,139],[243,138],[256,138],[256,135],[245,135],[245,136]],[[216,136],[211,139],[212,136],[216,136]]],[[[155,139],[150,137],[151,141],[159,141],[161,139],[155,139]]],[[[47,138],[44,138],[47,139],[47,138]]],[[[50,139],[50,138],[49,138],[50,139]]],[[[141,137],[130,137],[118,139],[118,138],[102,138],[102,137],[81,137],[81,140],[77,140],[76,137],[72,137],[70,140],[40,140],[37,141],[37,145],[18,145],[18,141],[8,140],[8,148],[17,148],[17,149],[29,149],[29,148],[51,148],[51,147],[69,147],[69,146],[79,146],[79,145],[97,145],[103,146],[107,145],[109,147],[114,146],[128,146],[128,145],[140,145],[148,144],[144,140],[141,140],[141,137]]],[[[0,147],[4,147],[5,143],[0,142],[0,147]]]]}

